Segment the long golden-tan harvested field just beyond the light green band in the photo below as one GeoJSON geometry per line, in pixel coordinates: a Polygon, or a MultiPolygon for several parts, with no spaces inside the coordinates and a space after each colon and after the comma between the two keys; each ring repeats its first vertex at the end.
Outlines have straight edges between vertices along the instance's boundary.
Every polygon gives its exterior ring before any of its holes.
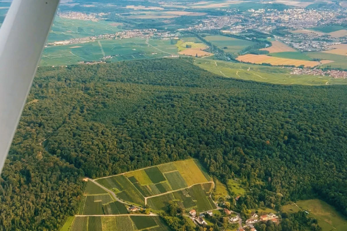
{"type": "Polygon", "coordinates": [[[320,63],[316,61],[306,61],[306,60],[296,60],[296,59],[283,59],[278,57],[271,57],[267,55],[255,55],[255,54],[246,54],[237,57],[238,61],[246,63],[270,63],[274,66],[283,66],[283,65],[305,65],[305,67],[314,67],[318,66],[320,63]]]}

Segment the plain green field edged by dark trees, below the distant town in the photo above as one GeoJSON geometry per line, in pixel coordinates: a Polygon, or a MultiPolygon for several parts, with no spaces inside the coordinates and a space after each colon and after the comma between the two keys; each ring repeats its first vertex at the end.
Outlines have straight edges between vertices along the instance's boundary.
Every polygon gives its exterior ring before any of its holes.
{"type": "Polygon", "coordinates": [[[204,38],[207,41],[211,42],[212,44],[218,46],[220,49],[222,49],[226,53],[239,53],[244,48],[255,44],[252,41],[232,38],[232,37],[222,36],[222,35],[212,35],[212,36],[206,36],[204,38]],[[224,49],[224,47],[227,47],[227,48],[224,49]]]}

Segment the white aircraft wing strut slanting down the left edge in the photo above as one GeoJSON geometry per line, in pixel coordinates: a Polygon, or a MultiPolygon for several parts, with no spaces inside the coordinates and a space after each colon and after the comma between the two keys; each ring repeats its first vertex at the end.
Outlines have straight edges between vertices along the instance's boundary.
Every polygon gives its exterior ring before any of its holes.
{"type": "Polygon", "coordinates": [[[14,0],[0,29],[0,173],[59,0],[14,0]]]}

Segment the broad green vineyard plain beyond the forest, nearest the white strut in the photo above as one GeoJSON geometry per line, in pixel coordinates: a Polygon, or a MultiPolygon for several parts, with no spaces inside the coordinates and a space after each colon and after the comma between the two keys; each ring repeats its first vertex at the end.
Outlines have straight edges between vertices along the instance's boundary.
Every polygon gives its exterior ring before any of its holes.
{"type": "Polygon", "coordinates": [[[177,47],[170,41],[145,38],[101,39],[99,41],[46,47],[40,66],[77,64],[82,61],[100,61],[104,56],[110,62],[139,60],[177,55],[177,47]],[[148,44],[147,44],[148,43],[148,44]]]}

